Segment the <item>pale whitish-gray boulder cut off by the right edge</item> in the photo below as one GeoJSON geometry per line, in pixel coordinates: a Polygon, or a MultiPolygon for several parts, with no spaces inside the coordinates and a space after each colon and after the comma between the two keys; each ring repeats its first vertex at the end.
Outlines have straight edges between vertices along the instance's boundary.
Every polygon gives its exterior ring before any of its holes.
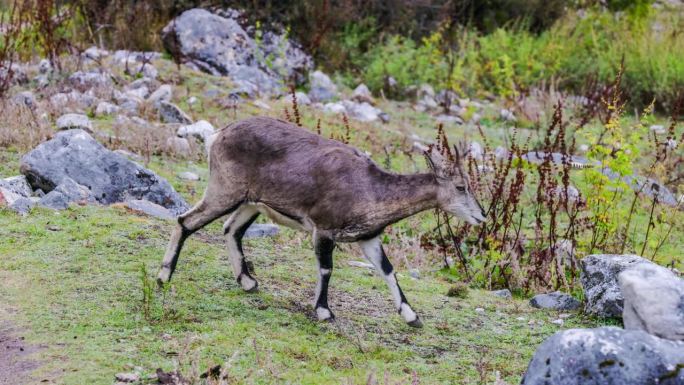
{"type": "Polygon", "coordinates": [[[625,329],[684,340],[684,280],[670,270],[642,263],[618,275],[625,298],[625,329]]]}

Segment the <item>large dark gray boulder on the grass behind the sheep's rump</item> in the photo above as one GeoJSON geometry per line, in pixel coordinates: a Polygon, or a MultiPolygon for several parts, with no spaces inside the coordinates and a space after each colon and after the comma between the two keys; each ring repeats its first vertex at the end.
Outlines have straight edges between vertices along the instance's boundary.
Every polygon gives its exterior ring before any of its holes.
{"type": "Polygon", "coordinates": [[[106,149],[83,130],[59,132],[21,159],[34,189],[54,190],[67,178],[86,186],[102,204],[146,199],[178,215],[187,203],[154,172],[106,149]]]}

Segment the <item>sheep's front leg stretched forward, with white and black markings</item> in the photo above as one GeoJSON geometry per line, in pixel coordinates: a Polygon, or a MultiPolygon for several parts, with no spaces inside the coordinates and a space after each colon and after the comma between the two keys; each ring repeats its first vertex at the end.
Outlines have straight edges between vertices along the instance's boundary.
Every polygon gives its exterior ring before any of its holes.
{"type": "Polygon", "coordinates": [[[392,292],[394,305],[396,306],[399,315],[404,318],[409,326],[416,328],[423,327],[423,323],[413,311],[411,305],[408,304],[406,297],[404,297],[404,293],[399,287],[397,276],[394,274],[394,267],[389,259],[387,259],[387,255],[385,255],[385,250],[382,248],[380,238],[375,237],[367,241],[359,241],[359,245],[363,250],[363,254],[366,256],[366,259],[375,266],[375,270],[378,274],[385,279],[390,292],[392,292]]]}

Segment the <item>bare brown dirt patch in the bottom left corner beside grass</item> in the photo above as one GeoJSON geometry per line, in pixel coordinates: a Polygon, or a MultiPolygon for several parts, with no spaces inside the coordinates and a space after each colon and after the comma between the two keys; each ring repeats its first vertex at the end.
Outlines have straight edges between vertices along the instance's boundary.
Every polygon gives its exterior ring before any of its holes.
{"type": "Polygon", "coordinates": [[[28,356],[38,347],[28,345],[18,329],[0,322],[0,385],[25,384],[40,363],[28,356]]]}

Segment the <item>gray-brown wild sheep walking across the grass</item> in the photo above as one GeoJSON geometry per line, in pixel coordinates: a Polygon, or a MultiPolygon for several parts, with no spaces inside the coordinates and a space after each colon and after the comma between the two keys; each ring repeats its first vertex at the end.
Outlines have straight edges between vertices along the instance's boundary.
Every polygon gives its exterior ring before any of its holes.
{"type": "MultiPolygon", "coordinates": [[[[236,235],[235,227],[258,213],[309,231],[317,242],[368,242],[387,225],[436,207],[472,223],[484,220],[484,212],[469,193],[458,156],[448,161],[435,150],[426,155],[433,172],[398,175],[382,170],[351,146],[282,120],[257,117],[233,123],[211,145],[207,190],[197,206],[179,217],[159,280],[170,279],[187,236],[227,214],[232,214],[225,225],[229,253],[234,255],[234,272],[245,290],[255,289],[256,281],[252,283],[252,277],[241,270],[244,256],[236,246],[241,235],[236,235]]],[[[367,257],[376,258],[382,271],[386,256],[381,245],[366,244],[366,249],[377,254],[367,257]]],[[[332,262],[330,269],[321,268],[326,279],[319,291],[327,293],[332,262]]],[[[383,274],[393,273],[389,269],[383,274]]],[[[400,305],[408,307],[408,303],[396,279],[388,284],[402,313],[400,305]]],[[[330,313],[324,302],[324,310],[330,313]]],[[[405,313],[409,310],[413,314],[410,307],[405,313]]],[[[409,323],[419,322],[415,315],[402,315],[409,323]]],[[[332,318],[332,313],[319,314],[325,317],[332,318]]]]}

